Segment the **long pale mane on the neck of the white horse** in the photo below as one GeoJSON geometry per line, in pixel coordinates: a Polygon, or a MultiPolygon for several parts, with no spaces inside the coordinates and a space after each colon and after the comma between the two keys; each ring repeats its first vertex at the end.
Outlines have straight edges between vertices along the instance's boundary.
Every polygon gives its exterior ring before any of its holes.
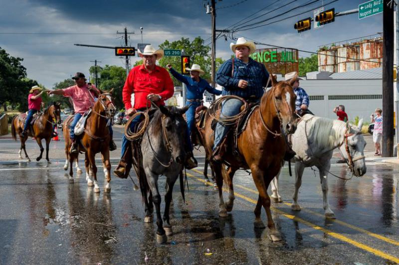
{"type": "MultiPolygon", "coordinates": [[[[308,117],[306,115],[304,120],[306,121],[308,117]]],[[[313,142],[317,142],[327,148],[334,148],[339,144],[343,131],[346,128],[345,122],[324,117],[315,117],[310,120],[310,123],[308,138],[310,137],[313,139],[313,142]]]]}

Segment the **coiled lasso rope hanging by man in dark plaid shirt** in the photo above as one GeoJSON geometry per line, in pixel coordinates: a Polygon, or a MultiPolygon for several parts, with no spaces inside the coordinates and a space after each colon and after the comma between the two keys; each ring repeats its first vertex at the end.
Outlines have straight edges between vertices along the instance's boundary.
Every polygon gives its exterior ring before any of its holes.
{"type": "Polygon", "coordinates": [[[224,126],[228,125],[234,125],[237,120],[239,120],[242,116],[245,115],[246,111],[248,109],[248,104],[246,101],[240,97],[237,96],[222,96],[212,102],[209,106],[208,113],[209,116],[212,117],[212,119],[216,120],[218,123],[223,124],[224,126]],[[221,105],[224,101],[230,100],[230,99],[237,99],[243,103],[244,109],[238,113],[237,115],[234,116],[229,116],[229,117],[221,117],[221,105]],[[217,117],[216,111],[220,109],[220,115],[217,117]]]}

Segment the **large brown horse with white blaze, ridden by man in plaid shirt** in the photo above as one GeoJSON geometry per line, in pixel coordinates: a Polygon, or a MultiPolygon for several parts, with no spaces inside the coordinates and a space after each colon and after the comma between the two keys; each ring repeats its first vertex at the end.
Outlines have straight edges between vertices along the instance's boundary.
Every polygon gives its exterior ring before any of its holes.
{"type": "MultiPolygon", "coordinates": [[[[211,165],[219,191],[219,216],[226,217],[227,212],[233,208],[235,197],[232,180],[235,171],[239,168],[250,169],[259,191],[258,202],[254,211],[254,226],[255,228],[265,228],[260,217],[260,210],[263,206],[266,210],[267,226],[270,229],[269,238],[272,241],[279,241],[281,237],[271,216],[267,187],[282,167],[286,150],[286,141],[282,129],[284,128],[287,133],[294,133],[296,130],[296,96],[292,89],[296,76],[289,81],[280,82],[277,82],[272,75],[270,75],[270,78],[272,88],[264,93],[259,107],[252,113],[245,130],[238,136],[237,149],[239,154],[235,155],[234,145],[229,144],[223,155],[224,162],[229,165],[227,171],[220,163],[211,161],[211,165]],[[226,203],[223,201],[222,194],[223,180],[229,187],[229,200],[226,203]]],[[[211,122],[212,119],[206,120],[203,134],[205,150],[208,155],[212,153],[213,146],[211,122]]]]}

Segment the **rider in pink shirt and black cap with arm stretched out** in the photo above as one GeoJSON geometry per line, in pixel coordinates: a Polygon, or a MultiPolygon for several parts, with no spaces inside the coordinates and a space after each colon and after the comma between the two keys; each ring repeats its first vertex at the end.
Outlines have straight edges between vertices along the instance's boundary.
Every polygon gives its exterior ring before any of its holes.
{"type": "MultiPolygon", "coordinates": [[[[71,129],[69,132],[69,136],[72,140],[72,146],[70,152],[77,153],[78,150],[77,150],[77,143],[74,132],[75,126],[78,123],[79,119],[83,116],[83,114],[87,112],[92,106],[94,106],[95,103],[94,97],[98,98],[98,96],[100,95],[100,91],[95,86],[86,83],[86,78],[83,73],[79,72],[76,73],[75,76],[72,77],[72,79],[75,80],[76,82],[75,86],[71,86],[65,89],[53,90],[50,91],[48,94],[70,97],[73,101],[75,117],[71,123],[71,129]]],[[[108,128],[111,135],[110,151],[113,151],[116,149],[116,145],[112,139],[113,136],[112,126],[110,125],[108,128]]]]}

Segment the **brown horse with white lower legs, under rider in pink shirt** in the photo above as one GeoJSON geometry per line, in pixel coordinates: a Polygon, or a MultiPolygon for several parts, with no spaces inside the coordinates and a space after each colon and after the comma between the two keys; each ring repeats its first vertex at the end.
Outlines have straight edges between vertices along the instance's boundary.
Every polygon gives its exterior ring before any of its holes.
{"type": "MultiPolygon", "coordinates": [[[[86,120],[84,127],[84,133],[78,136],[77,141],[79,142],[79,152],[85,153],[85,167],[86,167],[86,180],[88,186],[94,185],[94,192],[100,192],[97,182],[97,166],[95,161],[96,153],[101,153],[104,175],[107,180],[107,184],[104,186],[104,191],[111,192],[111,162],[109,159],[109,142],[111,135],[108,129],[108,122],[113,119],[116,108],[112,102],[112,91],[109,93],[102,93],[97,102],[94,104],[89,117],[86,120]],[[91,177],[94,177],[94,182],[91,177]]],[[[69,181],[73,180],[72,163],[78,158],[78,153],[70,153],[71,139],[69,137],[69,129],[72,119],[68,118],[63,125],[63,133],[65,138],[65,154],[66,159],[69,160],[69,181]]],[[[68,167],[66,167],[67,169],[68,167]]],[[[65,169],[65,167],[64,167],[65,169]]],[[[65,170],[66,170],[65,169],[65,170]]]]}

